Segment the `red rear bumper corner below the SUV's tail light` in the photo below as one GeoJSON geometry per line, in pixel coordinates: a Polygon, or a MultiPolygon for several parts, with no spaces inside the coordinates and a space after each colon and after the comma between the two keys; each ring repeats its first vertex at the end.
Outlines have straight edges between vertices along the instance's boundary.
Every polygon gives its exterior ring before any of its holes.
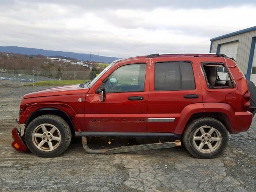
{"type": "Polygon", "coordinates": [[[252,113],[246,112],[235,112],[233,129],[231,134],[237,134],[239,132],[247,131],[252,124],[252,113]]]}

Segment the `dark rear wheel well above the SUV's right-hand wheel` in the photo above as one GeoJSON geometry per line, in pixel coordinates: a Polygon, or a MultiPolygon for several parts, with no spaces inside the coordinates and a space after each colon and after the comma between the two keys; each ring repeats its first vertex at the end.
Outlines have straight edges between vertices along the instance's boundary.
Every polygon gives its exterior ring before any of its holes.
{"type": "Polygon", "coordinates": [[[189,119],[188,122],[186,123],[186,126],[194,119],[199,118],[199,117],[212,117],[214,119],[219,120],[224,124],[228,132],[232,132],[232,126],[231,123],[228,119],[228,116],[224,113],[218,113],[218,112],[202,112],[202,113],[195,113],[193,114],[189,119]]]}

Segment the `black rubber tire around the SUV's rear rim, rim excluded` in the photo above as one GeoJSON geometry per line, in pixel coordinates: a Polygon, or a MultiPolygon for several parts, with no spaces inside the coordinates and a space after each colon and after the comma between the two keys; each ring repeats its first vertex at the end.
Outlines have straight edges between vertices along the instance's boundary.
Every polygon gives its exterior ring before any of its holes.
{"type": "MultiPolygon", "coordinates": [[[[206,127],[206,129],[207,129],[207,127],[206,127]]],[[[216,132],[214,132],[214,134],[216,134],[216,132]]],[[[201,134],[201,132],[200,132],[200,134],[201,134]]],[[[206,134],[207,134],[207,132],[206,132],[206,134]]],[[[204,138],[204,139],[206,139],[206,138],[204,138]]],[[[212,136],[212,138],[213,138],[213,136],[212,136]]],[[[203,150],[210,150],[210,148],[208,148],[208,145],[207,145],[208,141],[206,140],[204,142],[205,143],[203,143],[204,144],[203,146],[206,149],[203,149],[203,150]]],[[[214,118],[211,118],[211,117],[198,118],[196,120],[193,120],[186,126],[186,129],[185,129],[183,137],[182,137],[182,143],[184,144],[186,150],[188,150],[188,152],[196,158],[202,158],[202,159],[216,158],[216,157],[220,156],[220,154],[222,154],[224,152],[224,150],[226,149],[226,146],[228,144],[228,132],[226,130],[226,127],[220,121],[218,121],[214,118]],[[201,152],[202,150],[200,151],[200,149],[196,148],[196,146],[195,146],[196,142],[200,142],[200,144],[201,144],[201,142],[203,142],[203,141],[195,141],[193,138],[194,134],[196,134],[196,132],[198,132],[198,129],[203,126],[212,127],[217,130],[216,132],[218,132],[218,134],[220,134],[220,137],[221,137],[220,142],[218,145],[216,145],[216,148],[212,152],[210,152],[210,151],[208,153],[201,152]]],[[[210,143],[216,144],[218,142],[210,142],[210,143]]],[[[200,144],[198,144],[198,145],[200,145],[200,144]]]]}

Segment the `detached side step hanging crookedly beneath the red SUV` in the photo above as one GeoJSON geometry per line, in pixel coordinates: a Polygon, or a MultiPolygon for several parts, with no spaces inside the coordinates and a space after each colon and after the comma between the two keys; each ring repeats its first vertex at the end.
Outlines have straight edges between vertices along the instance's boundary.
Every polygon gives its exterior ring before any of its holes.
{"type": "Polygon", "coordinates": [[[142,151],[142,150],[151,150],[151,149],[163,149],[163,148],[172,148],[176,146],[181,146],[179,140],[175,142],[164,142],[164,143],[152,143],[152,144],[142,144],[142,145],[133,145],[133,146],[123,146],[113,149],[91,149],[87,145],[86,137],[82,137],[82,144],[84,150],[89,154],[115,154],[123,152],[132,152],[132,151],[142,151]]]}

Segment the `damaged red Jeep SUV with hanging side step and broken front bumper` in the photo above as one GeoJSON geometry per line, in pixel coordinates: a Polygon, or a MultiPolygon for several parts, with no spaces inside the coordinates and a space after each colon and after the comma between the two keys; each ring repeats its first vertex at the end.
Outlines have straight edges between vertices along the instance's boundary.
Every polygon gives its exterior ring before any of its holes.
{"type": "Polygon", "coordinates": [[[168,148],[180,140],[196,158],[215,158],[225,150],[228,132],[250,128],[249,100],[244,74],[224,54],[125,58],[91,82],[24,95],[17,119],[25,124],[24,136],[14,129],[12,146],[54,157],[68,148],[72,135],[82,136],[93,154],[168,148]],[[86,136],[172,142],[92,150],[86,136]]]}

